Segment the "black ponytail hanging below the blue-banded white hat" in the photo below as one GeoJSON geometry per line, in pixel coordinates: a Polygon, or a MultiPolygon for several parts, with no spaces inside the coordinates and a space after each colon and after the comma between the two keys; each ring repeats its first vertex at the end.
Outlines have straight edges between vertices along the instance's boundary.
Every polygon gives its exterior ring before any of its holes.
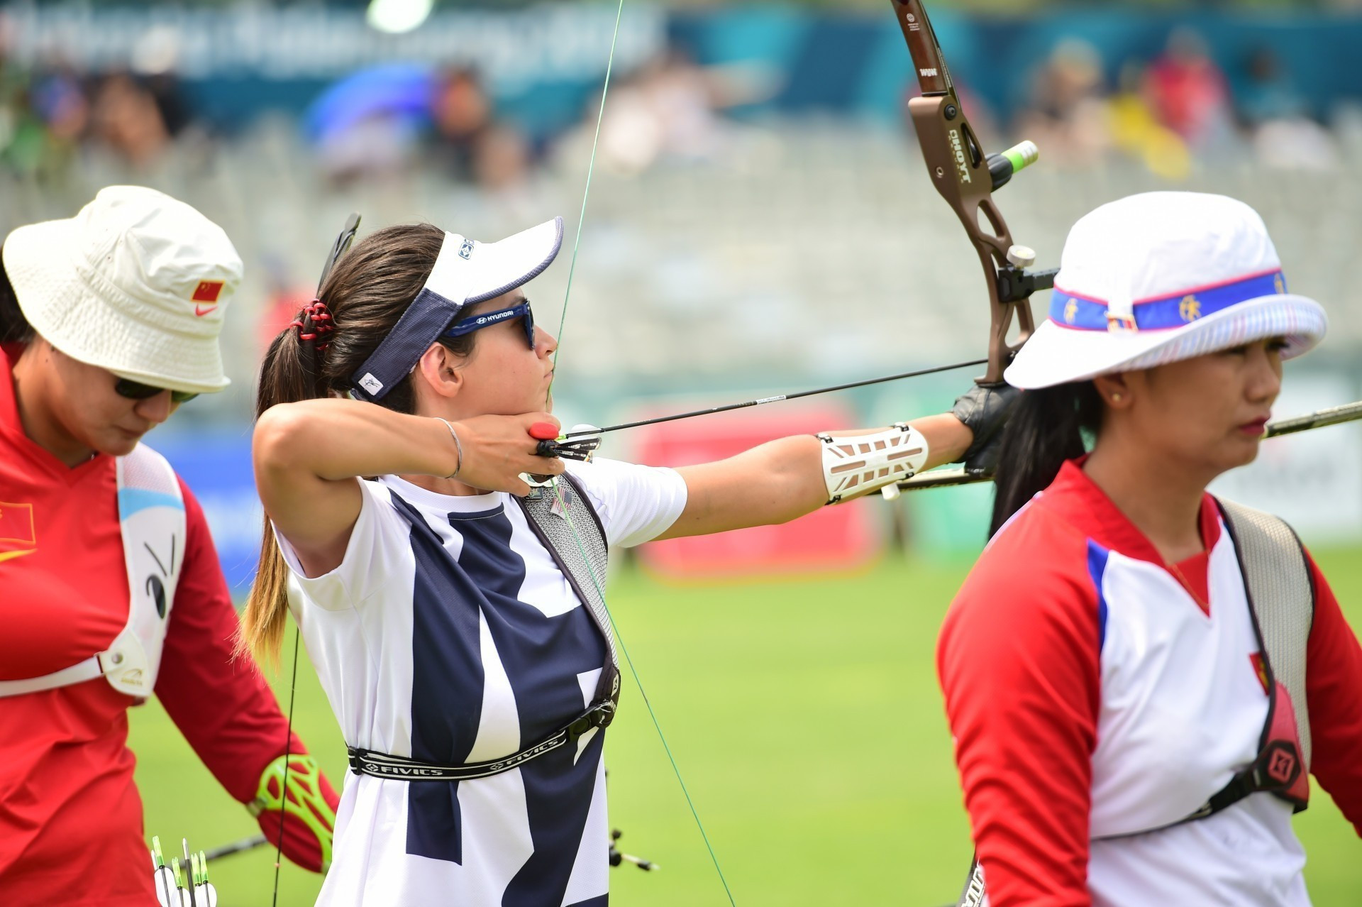
{"type": "Polygon", "coordinates": [[[1102,424],[1102,398],[1092,381],[1026,391],[1002,430],[993,485],[989,538],[1043,490],[1065,460],[1083,456],[1102,424]]]}

